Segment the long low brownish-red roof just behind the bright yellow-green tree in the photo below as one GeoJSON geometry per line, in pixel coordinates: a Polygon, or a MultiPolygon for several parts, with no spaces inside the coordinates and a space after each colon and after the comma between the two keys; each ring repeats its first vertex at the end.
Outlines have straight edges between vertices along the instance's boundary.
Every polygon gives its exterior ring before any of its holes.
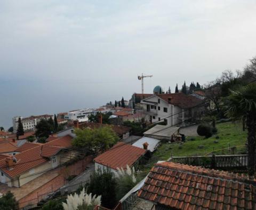
{"type": "Polygon", "coordinates": [[[124,133],[127,133],[127,132],[131,131],[131,129],[132,129],[131,127],[122,126],[122,125],[108,125],[108,124],[100,124],[100,123],[92,123],[92,122],[84,122],[84,123],[78,124],[78,127],[80,129],[84,129],[86,127],[94,129],[94,128],[99,128],[102,126],[111,127],[113,129],[113,131],[118,135],[123,135],[124,133]]]}

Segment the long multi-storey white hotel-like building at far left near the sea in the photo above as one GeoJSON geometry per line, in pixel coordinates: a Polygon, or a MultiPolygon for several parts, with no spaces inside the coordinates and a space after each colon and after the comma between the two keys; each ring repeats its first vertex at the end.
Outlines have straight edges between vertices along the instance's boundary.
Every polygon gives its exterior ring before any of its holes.
{"type": "Polygon", "coordinates": [[[53,115],[38,115],[38,116],[30,116],[25,118],[22,118],[21,116],[15,116],[12,118],[13,133],[17,132],[19,117],[23,125],[23,130],[26,132],[26,131],[34,131],[38,122],[40,122],[42,119],[49,119],[50,117],[53,118],[53,115]]]}

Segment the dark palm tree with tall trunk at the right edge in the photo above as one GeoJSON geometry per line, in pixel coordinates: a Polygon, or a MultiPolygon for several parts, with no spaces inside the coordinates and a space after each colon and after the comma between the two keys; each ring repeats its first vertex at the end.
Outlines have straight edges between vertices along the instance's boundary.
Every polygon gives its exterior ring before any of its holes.
{"type": "Polygon", "coordinates": [[[248,173],[255,174],[255,133],[256,133],[256,84],[249,84],[231,91],[227,98],[227,117],[245,119],[247,128],[248,173]]]}

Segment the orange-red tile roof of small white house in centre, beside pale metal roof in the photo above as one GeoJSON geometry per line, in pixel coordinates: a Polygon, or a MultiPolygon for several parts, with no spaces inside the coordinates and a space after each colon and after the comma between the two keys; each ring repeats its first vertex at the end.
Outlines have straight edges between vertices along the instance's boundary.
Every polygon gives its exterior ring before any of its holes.
{"type": "Polygon", "coordinates": [[[94,158],[94,161],[115,170],[117,167],[126,169],[126,165],[132,166],[145,152],[145,149],[118,142],[113,148],[94,158]]]}

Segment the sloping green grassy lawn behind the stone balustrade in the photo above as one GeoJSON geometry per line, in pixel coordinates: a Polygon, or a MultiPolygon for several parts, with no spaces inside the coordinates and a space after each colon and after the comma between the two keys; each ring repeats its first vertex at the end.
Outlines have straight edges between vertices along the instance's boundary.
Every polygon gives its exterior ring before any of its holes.
{"type": "MultiPolygon", "coordinates": [[[[246,142],[247,132],[243,132],[241,124],[231,122],[217,124],[218,132],[209,139],[202,136],[192,137],[186,136],[186,141],[180,143],[163,143],[153,157],[150,158],[148,164],[143,168],[151,168],[158,160],[167,160],[173,156],[195,156],[195,155],[231,155],[233,151],[229,147],[242,146],[246,142]],[[219,136],[219,139],[217,139],[219,136]],[[194,139],[191,141],[191,139],[194,139]],[[218,141],[218,143],[214,143],[218,141]],[[200,149],[201,147],[201,149],[200,149]],[[227,148],[227,149],[225,149],[227,148]],[[223,150],[222,150],[223,149],[223,150]],[[214,150],[214,151],[213,151],[214,150]],[[211,152],[211,154],[209,154],[211,152]]],[[[236,147],[234,154],[243,154],[245,147],[236,147]]]]}

